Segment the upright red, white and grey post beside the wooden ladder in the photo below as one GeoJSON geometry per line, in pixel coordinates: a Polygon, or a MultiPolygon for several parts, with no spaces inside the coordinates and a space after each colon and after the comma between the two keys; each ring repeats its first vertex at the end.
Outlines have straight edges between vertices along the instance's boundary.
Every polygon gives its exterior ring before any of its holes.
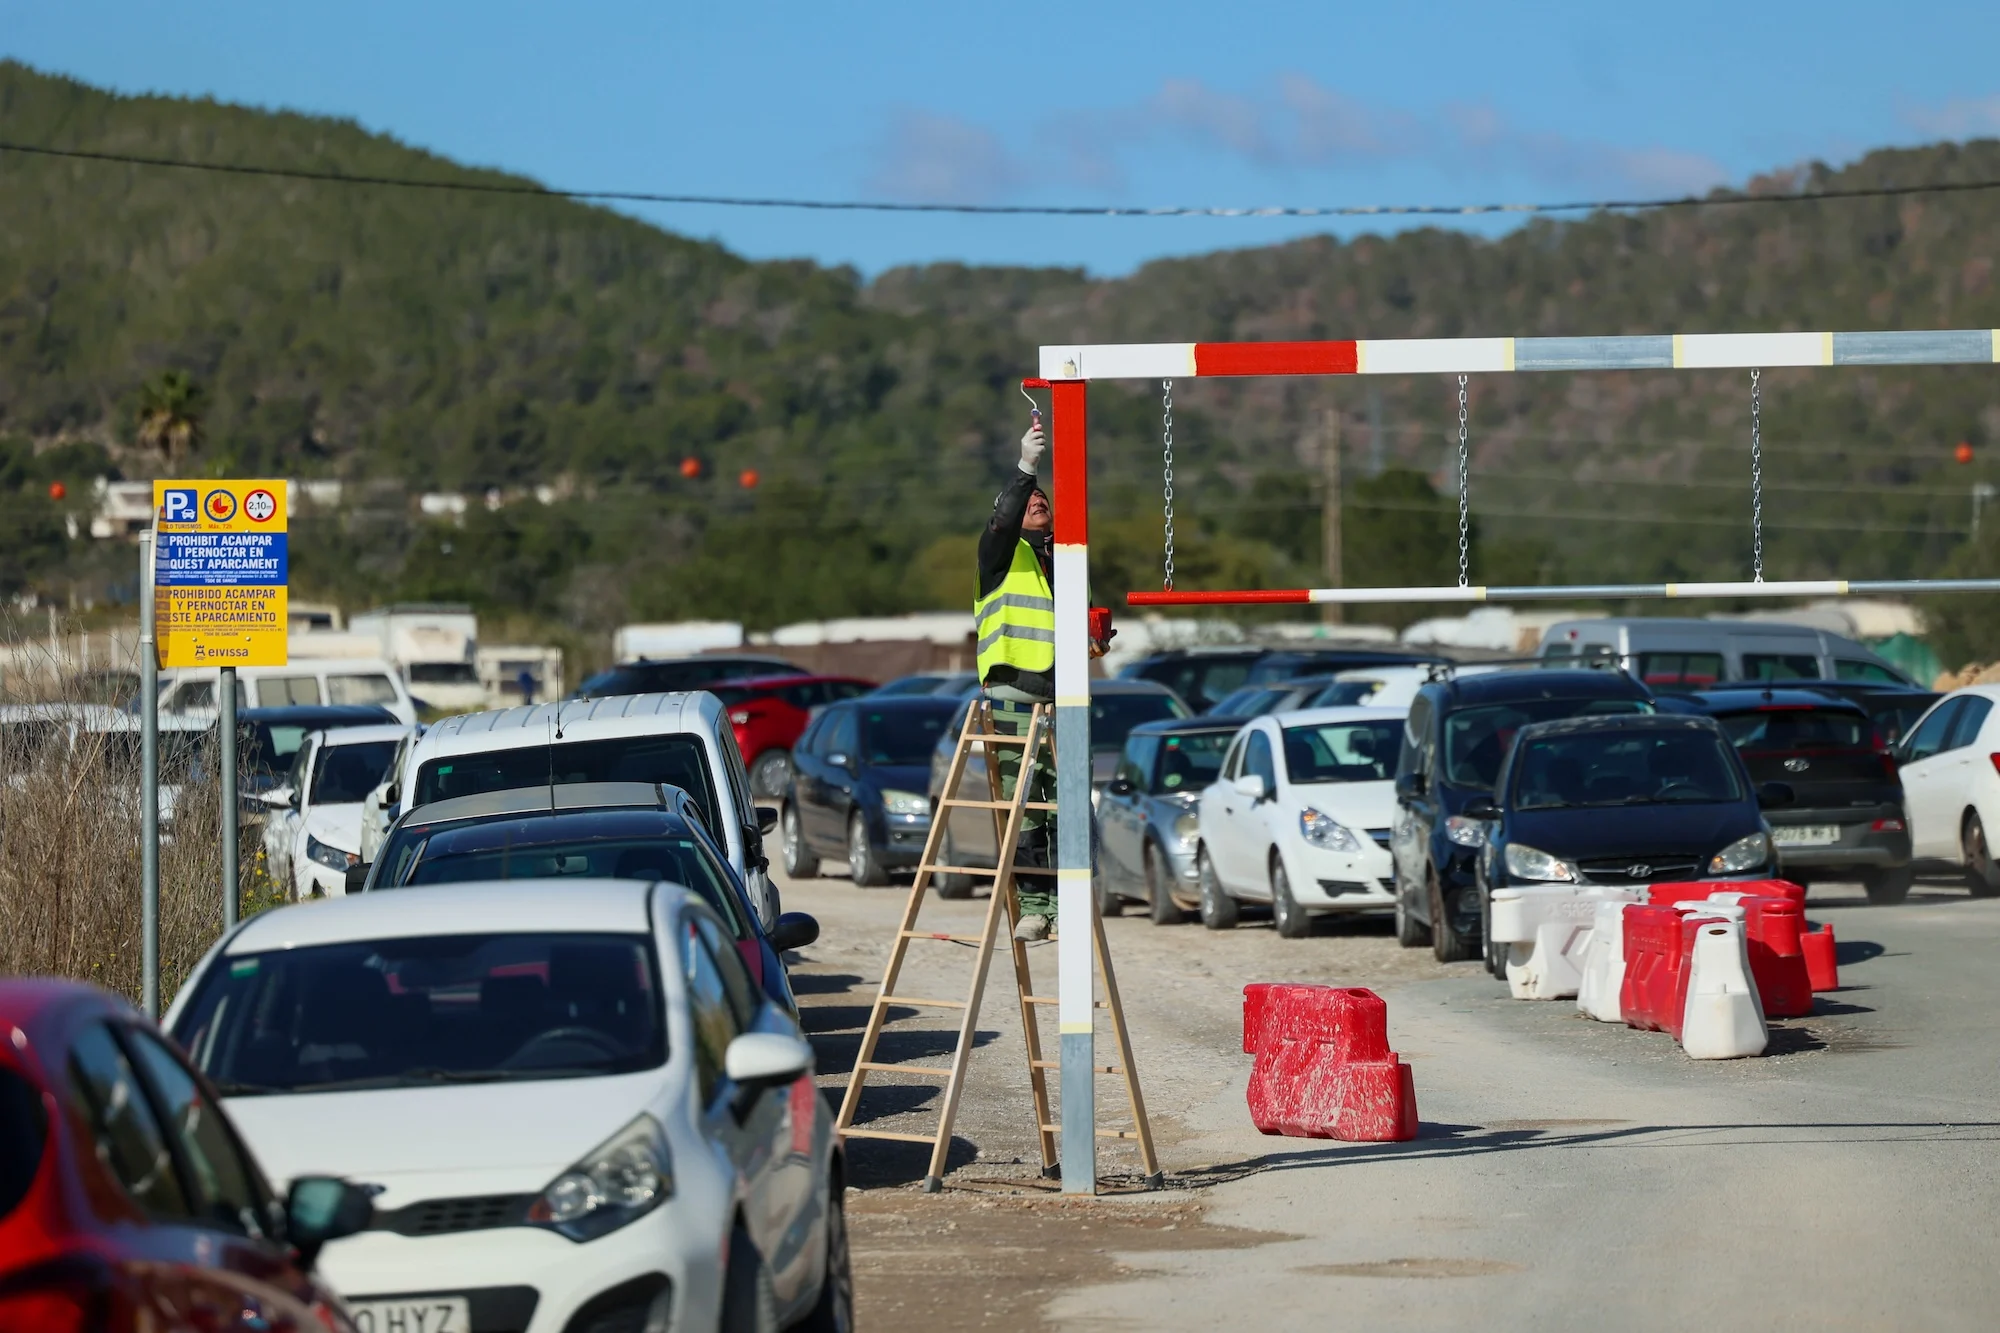
{"type": "MultiPolygon", "coordinates": [[[[1056,1021],[1062,1031],[1062,1193],[1098,1191],[1090,893],[1090,450],[1082,380],[1052,388],[1056,474],[1056,1021]]],[[[1026,761],[1024,761],[1026,763],[1026,761]]]]}

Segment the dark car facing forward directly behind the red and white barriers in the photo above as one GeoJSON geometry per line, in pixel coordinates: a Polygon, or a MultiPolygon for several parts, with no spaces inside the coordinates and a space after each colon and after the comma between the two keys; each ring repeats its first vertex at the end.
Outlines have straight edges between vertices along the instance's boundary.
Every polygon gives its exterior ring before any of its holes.
{"type": "MultiPolygon", "coordinates": [[[[1484,823],[1480,905],[1510,885],[1650,885],[1768,879],[1776,873],[1766,807],[1792,789],[1762,787],[1724,733],[1682,713],[1568,717],[1514,737],[1490,797],[1466,803],[1484,823]]],[[[1498,959],[1488,957],[1498,973],[1498,959]]]]}

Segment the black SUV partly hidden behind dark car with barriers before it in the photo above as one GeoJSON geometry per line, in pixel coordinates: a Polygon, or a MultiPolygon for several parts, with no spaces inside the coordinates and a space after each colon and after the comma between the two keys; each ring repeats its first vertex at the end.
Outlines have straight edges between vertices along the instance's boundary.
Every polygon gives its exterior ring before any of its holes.
{"type": "Polygon", "coordinates": [[[1490,797],[1514,733],[1578,715],[1652,713],[1652,693],[1622,671],[1446,675],[1416,693],[1396,761],[1396,941],[1430,943],[1440,963],[1480,951],[1484,825],[1466,803],[1490,797]]]}

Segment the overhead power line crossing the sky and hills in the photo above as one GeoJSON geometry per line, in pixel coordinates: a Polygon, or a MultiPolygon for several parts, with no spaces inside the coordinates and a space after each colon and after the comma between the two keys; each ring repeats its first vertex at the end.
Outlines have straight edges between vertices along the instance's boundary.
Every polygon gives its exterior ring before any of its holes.
{"type": "Polygon", "coordinates": [[[1004,218],[1450,218],[1482,214],[1558,214],[1604,212],[1616,208],[1716,208],[1738,204],[1804,204],[1850,198],[1906,198],[1910,194],[1972,194],[2000,190],[2000,180],[1944,180],[1936,184],[1852,186],[1816,190],[1810,194],[1678,194],[1672,198],[1600,198],[1554,204],[1278,204],[1278,206],[1156,206],[1132,208],[1116,204],[914,204],[900,200],[838,200],[784,198],[754,194],[668,194],[656,190],[558,190],[540,184],[498,180],[424,180],[420,176],[358,176],[350,172],[312,170],[306,166],[268,166],[240,162],[190,162],[186,158],[156,158],[138,152],[94,152],[88,148],[50,148],[46,144],[14,144],[0,140],[0,152],[20,152],[42,158],[80,162],[114,162],[122,166],[164,166],[228,176],[272,176],[280,180],[316,180],[324,184],[388,186],[400,190],[454,190],[460,194],[526,194],[538,198],[604,200],[622,204],[696,204],[704,208],[802,208],[812,212],[922,212],[972,214],[1004,218]]]}

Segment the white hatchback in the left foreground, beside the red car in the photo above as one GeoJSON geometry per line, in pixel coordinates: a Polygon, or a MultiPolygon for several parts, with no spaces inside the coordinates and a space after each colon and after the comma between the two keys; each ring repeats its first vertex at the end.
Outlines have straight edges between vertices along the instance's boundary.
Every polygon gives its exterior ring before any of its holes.
{"type": "Polygon", "coordinates": [[[376,1191],[320,1255],[364,1331],[852,1327],[812,1047],[678,885],[262,913],[166,1027],[280,1191],[376,1191]]]}

